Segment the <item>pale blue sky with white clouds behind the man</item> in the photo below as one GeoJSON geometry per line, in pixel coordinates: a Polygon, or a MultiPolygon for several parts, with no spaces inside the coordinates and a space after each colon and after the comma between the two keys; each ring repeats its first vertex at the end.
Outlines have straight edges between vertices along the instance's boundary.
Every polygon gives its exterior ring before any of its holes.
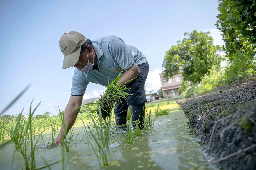
{"type": "MultiPolygon", "coordinates": [[[[156,92],[167,51],[185,32],[211,31],[223,45],[214,25],[217,0],[105,0],[105,1],[3,1],[0,6],[0,110],[28,84],[26,93],[6,114],[24,114],[34,98],[35,114],[56,114],[70,98],[74,67],[62,70],[59,38],[75,30],[93,40],[117,35],[137,47],[149,62],[146,90],[156,92]]],[[[102,94],[104,87],[89,84],[84,99],[102,94]]]]}

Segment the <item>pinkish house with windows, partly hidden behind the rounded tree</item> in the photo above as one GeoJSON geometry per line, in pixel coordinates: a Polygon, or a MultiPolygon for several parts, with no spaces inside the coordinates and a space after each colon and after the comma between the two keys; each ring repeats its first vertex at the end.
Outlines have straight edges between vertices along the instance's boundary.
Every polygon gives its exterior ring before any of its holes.
{"type": "Polygon", "coordinates": [[[176,74],[172,78],[169,78],[168,81],[164,79],[163,74],[159,74],[161,78],[162,91],[164,95],[164,99],[166,98],[174,98],[179,96],[179,86],[183,80],[182,74],[176,74]]]}

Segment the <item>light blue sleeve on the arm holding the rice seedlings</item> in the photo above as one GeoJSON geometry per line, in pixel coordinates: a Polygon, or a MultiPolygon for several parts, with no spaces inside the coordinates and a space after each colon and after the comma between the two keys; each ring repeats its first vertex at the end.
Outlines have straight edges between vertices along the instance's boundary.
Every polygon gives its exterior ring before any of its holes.
{"type": "Polygon", "coordinates": [[[122,39],[113,38],[109,44],[109,51],[122,69],[127,70],[133,66],[134,56],[122,39]]]}

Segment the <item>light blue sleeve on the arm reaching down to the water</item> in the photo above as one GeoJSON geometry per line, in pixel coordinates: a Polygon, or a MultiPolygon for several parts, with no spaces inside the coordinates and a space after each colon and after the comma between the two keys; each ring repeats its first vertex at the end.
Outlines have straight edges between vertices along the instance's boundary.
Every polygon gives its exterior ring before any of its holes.
{"type": "MultiPolygon", "coordinates": [[[[89,82],[84,81],[79,75],[79,70],[75,69],[72,78],[71,96],[82,96],[85,93],[86,87],[89,82]]],[[[81,73],[80,73],[81,74],[81,73]]]]}

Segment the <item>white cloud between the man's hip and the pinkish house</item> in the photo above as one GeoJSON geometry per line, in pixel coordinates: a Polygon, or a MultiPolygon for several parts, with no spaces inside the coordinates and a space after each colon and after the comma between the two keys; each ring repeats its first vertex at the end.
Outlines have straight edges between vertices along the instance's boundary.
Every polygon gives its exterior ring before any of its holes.
{"type": "Polygon", "coordinates": [[[149,91],[153,90],[153,93],[156,93],[157,90],[162,87],[160,74],[161,70],[155,69],[154,71],[149,71],[147,80],[145,83],[145,91],[147,94],[149,94],[149,91]]]}

